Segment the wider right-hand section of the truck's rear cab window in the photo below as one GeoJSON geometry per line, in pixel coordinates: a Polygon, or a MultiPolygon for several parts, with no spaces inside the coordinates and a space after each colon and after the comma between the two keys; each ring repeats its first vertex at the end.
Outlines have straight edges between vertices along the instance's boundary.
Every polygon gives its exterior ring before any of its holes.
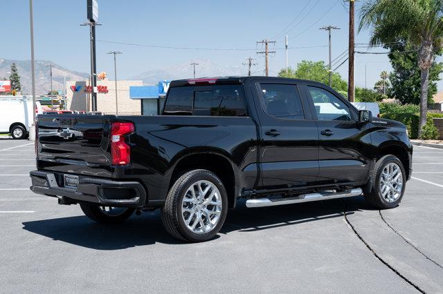
{"type": "Polygon", "coordinates": [[[241,86],[213,86],[208,90],[195,88],[192,115],[244,117],[244,95],[241,86]]]}

